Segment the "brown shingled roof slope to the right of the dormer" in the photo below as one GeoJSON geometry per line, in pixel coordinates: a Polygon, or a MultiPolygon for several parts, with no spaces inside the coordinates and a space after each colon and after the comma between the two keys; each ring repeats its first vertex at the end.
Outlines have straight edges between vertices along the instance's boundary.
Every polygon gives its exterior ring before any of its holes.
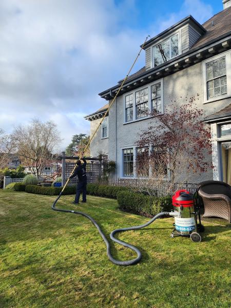
{"type": "Polygon", "coordinates": [[[194,49],[231,31],[231,7],[217,13],[202,25],[207,32],[191,47],[194,49]],[[212,25],[212,22],[214,26],[212,25]]]}

